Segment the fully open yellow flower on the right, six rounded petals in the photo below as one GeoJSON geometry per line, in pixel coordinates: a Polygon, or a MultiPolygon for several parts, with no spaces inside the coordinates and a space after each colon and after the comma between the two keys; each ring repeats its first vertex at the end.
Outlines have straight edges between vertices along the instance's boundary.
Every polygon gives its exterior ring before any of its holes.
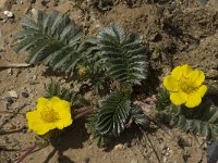
{"type": "Polygon", "coordinates": [[[187,108],[197,106],[207,91],[203,85],[205,75],[202,71],[192,70],[187,64],[177,66],[171,75],[165,77],[164,86],[170,91],[172,103],[185,104],[187,108]]]}

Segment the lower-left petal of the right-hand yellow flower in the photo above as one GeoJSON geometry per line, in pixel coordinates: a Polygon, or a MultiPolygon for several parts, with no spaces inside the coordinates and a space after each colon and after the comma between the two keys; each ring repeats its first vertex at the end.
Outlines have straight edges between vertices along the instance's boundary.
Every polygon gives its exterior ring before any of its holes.
{"type": "Polygon", "coordinates": [[[171,92],[170,93],[170,100],[175,105],[179,105],[179,104],[183,104],[187,101],[187,96],[183,91],[171,92]]]}

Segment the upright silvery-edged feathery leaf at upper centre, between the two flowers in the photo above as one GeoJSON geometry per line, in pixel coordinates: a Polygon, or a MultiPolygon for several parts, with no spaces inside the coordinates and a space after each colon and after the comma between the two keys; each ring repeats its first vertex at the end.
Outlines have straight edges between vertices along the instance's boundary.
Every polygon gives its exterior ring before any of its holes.
{"type": "Polygon", "coordinates": [[[147,76],[147,50],[135,34],[125,35],[112,23],[97,36],[108,74],[124,85],[140,84],[147,76]]]}

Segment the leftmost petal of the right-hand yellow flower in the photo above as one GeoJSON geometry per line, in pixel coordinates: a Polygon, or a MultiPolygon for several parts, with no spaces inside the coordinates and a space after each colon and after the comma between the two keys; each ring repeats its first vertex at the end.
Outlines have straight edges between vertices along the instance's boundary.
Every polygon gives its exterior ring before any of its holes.
{"type": "Polygon", "coordinates": [[[164,86],[169,90],[169,91],[178,91],[178,82],[174,79],[172,76],[166,76],[164,79],[164,86]]]}

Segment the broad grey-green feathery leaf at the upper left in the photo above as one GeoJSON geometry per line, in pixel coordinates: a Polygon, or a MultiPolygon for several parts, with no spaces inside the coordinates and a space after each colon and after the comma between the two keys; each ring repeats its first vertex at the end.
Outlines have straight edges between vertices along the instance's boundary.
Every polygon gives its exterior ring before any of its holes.
{"type": "Polygon", "coordinates": [[[14,35],[14,39],[21,40],[17,53],[28,51],[31,64],[45,63],[53,71],[73,72],[82,58],[77,48],[83,33],[68,14],[38,11],[35,20],[24,17],[21,24],[23,29],[14,35]]]}

